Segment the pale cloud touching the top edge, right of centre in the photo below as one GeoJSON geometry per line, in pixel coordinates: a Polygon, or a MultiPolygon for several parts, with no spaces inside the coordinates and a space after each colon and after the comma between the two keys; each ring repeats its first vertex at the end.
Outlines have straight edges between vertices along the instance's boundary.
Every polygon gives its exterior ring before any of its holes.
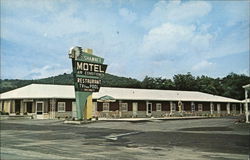
{"type": "Polygon", "coordinates": [[[150,15],[143,19],[142,25],[152,28],[162,23],[193,23],[199,18],[207,15],[212,6],[205,1],[159,1],[154,5],[150,15]],[[156,18],[157,17],[157,18],[156,18]]]}

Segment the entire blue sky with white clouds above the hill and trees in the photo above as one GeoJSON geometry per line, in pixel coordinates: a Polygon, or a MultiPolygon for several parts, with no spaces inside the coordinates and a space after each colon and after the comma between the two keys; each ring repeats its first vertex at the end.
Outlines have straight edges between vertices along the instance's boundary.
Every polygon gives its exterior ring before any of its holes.
{"type": "Polygon", "coordinates": [[[70,73],[92,48],[107,72],[142,80],[249,75],[250,1],[1,0],[1,78],[70,73]]]}

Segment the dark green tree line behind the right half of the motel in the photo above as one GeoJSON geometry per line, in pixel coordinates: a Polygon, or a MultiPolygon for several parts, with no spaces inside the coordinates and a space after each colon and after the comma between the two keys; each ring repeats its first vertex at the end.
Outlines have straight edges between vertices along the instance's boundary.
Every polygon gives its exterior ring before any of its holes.
{"type": "Polygon", "coordinates": [[[242,100],[245,98],[243,85],[250,84],[250,77],[244,74],[230,73],[223,78],[193,76],[191,73],[177,74],[173,80],[146,76],[141,82],[142,88],[183,91],[200,91],[213,95],[242,100]]]}

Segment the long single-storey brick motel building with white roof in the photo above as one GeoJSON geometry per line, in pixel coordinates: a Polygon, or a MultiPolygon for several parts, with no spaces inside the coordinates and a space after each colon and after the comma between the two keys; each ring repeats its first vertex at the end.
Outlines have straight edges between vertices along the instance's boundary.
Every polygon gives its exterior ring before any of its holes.
{"type": "MultiPolygon", "coordinates": [[[[101,87],[92,94],[93,117],[227,116],[244,112],[242,101],[196,91],[101,87]]],[[[73,85],[30,84],[0,94],[0,110],[34,119],[76,117],[73,85]]]]}

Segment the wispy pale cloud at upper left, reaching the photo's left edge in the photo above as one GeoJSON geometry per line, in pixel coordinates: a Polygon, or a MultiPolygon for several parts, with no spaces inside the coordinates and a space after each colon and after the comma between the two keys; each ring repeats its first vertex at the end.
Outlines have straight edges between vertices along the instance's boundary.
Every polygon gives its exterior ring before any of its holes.
{"type": "MultiPolygon", "coordinates": [[[[39,16],[47,17],[45,13],[39,16]]],[[[44,36],[49,38],[63,37],[69,34],[76,34],[80,32],[88,32],[89,26],[87,23],[74,17],[74,6],[68,6],[66,10],[60,11],[59,13],[52,13],[46,18],[46,21],[41,21],[39,18],[33,19],[32,17],[23,17],[20,19],[12,17],[1,18],[2,25],[6,26],[1,29],[1,37],[8,39],[16,39],[10,35],[10,32],[16,32],[15,34],[26,33],[26,35],[44,36]],[[7,26],[19,26],[20,28],[14,30],[14,27],[7,26]],[[8,37],[10,36],[10,37],[8,37]]]]}

